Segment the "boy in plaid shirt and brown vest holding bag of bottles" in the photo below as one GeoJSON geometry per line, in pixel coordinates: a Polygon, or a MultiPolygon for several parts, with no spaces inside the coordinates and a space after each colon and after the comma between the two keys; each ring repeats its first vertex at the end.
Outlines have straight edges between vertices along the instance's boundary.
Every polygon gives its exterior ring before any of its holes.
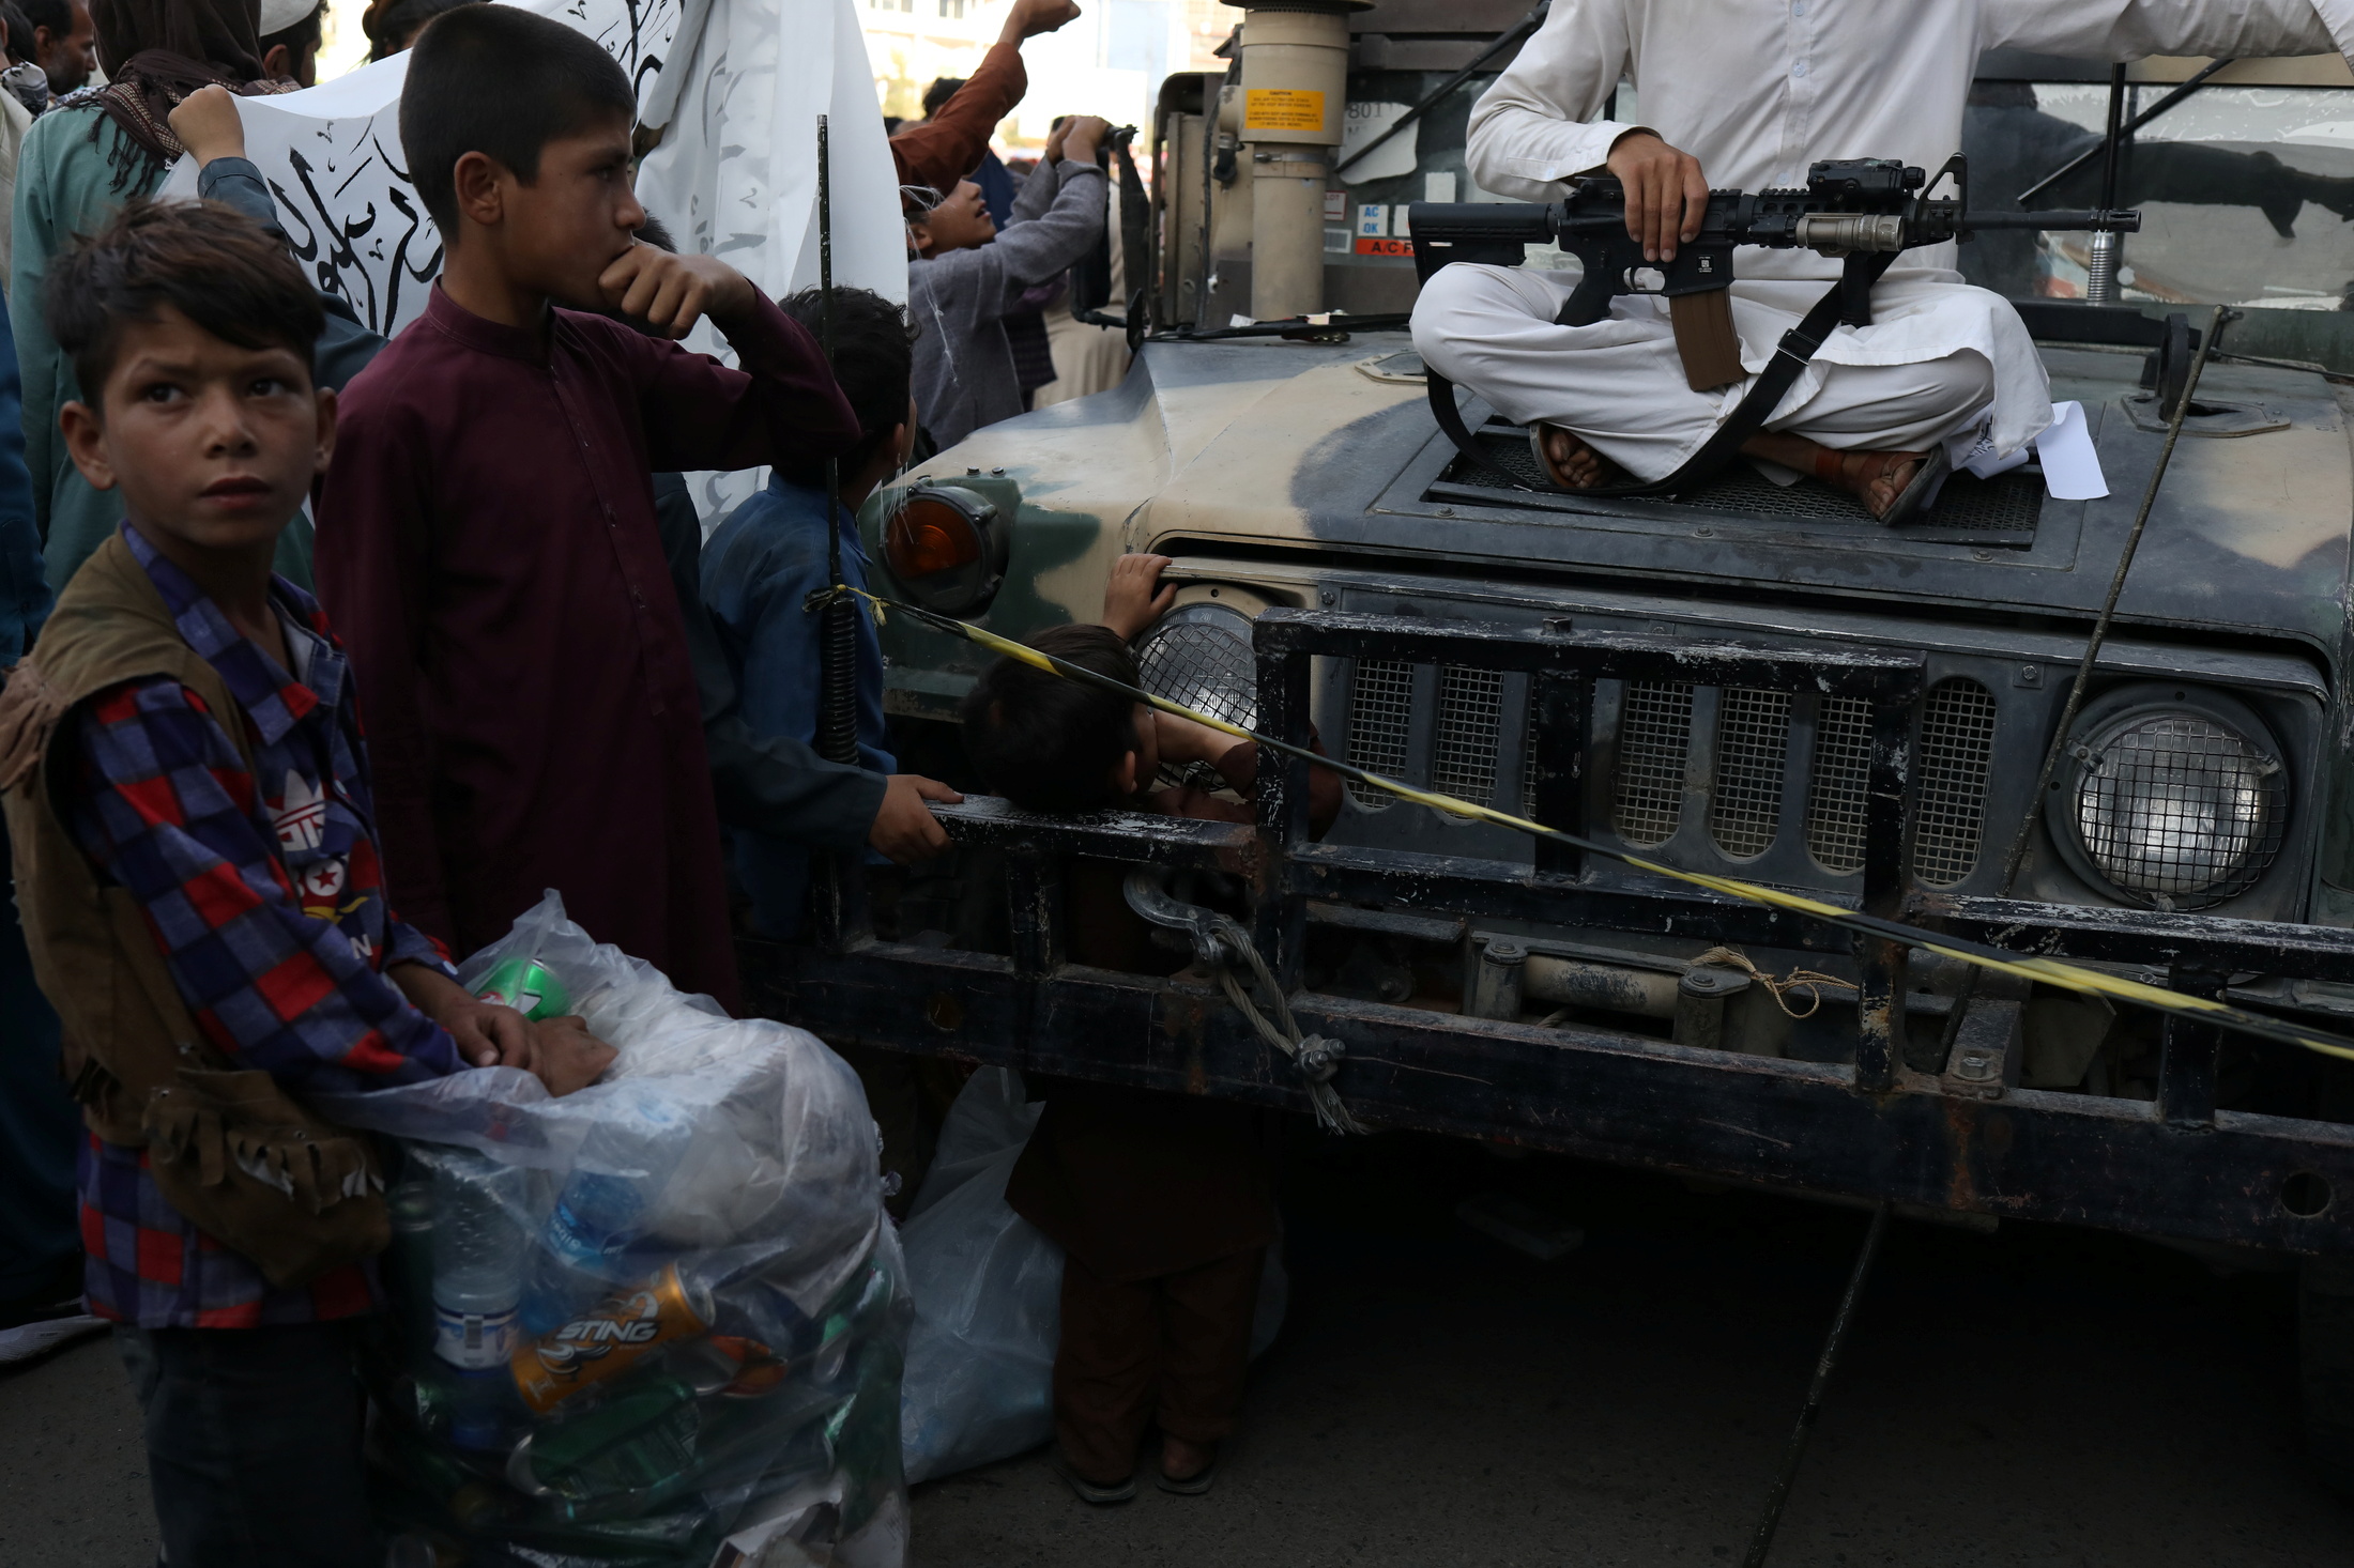
{"type": "Polygon", "coordinates": [[[374,1563],[353,1330],[381,1302],[372,1151],[301,1107],[468,1067],[588,1083],[610,1050],[471,998],[386,904],[344,650],[271,574],[334,445],[320,306],[214,205],[134,202],[49,271],[125,523],[0,697],[35,975],[85,1107],[89,1309],[146,1410],[174,1568],[374,1563]]]}

